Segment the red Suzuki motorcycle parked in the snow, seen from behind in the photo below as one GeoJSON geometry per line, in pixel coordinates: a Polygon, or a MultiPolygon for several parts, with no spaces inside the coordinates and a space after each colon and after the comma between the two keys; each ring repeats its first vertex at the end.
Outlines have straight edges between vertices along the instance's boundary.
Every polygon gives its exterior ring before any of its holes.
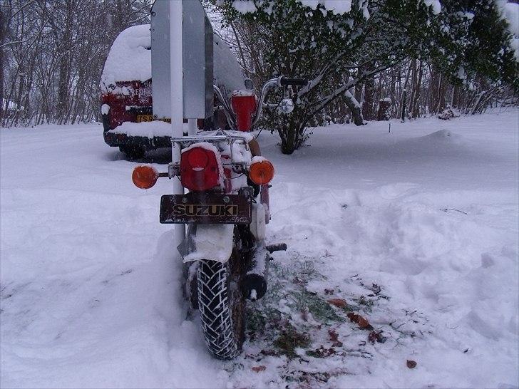
{"type": "MultiPolygon", "coordinates": [[[[216,358],[231,359],[241,352],[246,301],[264,296],[269,254],[287,249],[286,244],[264,242],[274,166],[258,155],[250,131],[269,90],[289,85],[304,86],[307,81],[272,78],[259,98],[252,88],[235,90],[230,103],[214,86],[231,130],[171,138],[172,147],[180,147],[180,162],[170,163],[168,172],[141,165],[132,173],[141,189],[153,187],[160,177],[178,177],[186,190],[161,197],[160,223],[187,224],[178,246],[185,264],[185,295],[200,311],[205,343],[216,358]]],[[[294,109],[290,98],[276,106],[282,113],[294,109]]]]}

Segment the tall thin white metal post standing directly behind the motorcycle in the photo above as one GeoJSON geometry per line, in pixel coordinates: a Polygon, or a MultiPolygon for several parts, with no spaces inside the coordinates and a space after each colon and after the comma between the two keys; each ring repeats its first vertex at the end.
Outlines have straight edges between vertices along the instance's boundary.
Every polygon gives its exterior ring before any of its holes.
{"type": "MultiPolygon", "coordinates": [[[[178,138],[184,135],[183,110],[183,50],[182,50],[182,1],[170,0],[170,95],[171,95],[171,134],[178,138]]],[[[180,146],[171,150],[173,162],[180,163],[180,146]]],[[[184,194],[180,180],[173,180],[173,193],[184,194]]],[[[175,226],[175,244],[185,238],[184,224],[175,226]]]]}

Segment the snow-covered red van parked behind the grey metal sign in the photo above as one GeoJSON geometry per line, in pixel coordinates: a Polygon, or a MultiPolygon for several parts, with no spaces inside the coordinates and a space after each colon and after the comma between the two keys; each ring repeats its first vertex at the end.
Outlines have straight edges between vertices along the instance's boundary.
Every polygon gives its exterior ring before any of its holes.
{"type": "MultiPolygon", "coordinates": [[[[157,122],[153,113],[151,43],[149,24],[126,28],[113,42],[101,76],[104,140],[130,158],[171,146],[170,126],[157,122]]],[[[212,81],[224,98],[245,89],[236,57],[217,35],[212,36],[212,61],[212,81]]],[[[207,130],[225,128],[222,108],[215,108],[212,118],[199,120],[198,125],[207,130]]]]}

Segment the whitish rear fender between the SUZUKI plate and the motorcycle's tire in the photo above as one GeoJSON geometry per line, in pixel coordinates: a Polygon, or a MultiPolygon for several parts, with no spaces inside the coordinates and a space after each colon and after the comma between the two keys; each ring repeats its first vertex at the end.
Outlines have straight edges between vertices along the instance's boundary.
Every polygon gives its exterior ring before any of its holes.
{"type": "Polygon", "coordinates": [[[233,224],[190,224],[177,247],[184,262],[209,259],[225,263],[232,253],[233,224]]]}

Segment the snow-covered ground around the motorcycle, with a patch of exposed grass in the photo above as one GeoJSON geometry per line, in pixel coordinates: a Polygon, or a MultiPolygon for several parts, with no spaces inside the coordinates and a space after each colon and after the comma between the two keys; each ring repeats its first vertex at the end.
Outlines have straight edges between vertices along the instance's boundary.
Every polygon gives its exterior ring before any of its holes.
{"type": "Polygon", "coordinates": [[[292,156],[262,133],[289,249],[222,362],[158,223],[170,183],[133,187],[101,125],[1,129],[0,386],[518,387],[518,139],[518,110],[317,128],[292,156]]]}

